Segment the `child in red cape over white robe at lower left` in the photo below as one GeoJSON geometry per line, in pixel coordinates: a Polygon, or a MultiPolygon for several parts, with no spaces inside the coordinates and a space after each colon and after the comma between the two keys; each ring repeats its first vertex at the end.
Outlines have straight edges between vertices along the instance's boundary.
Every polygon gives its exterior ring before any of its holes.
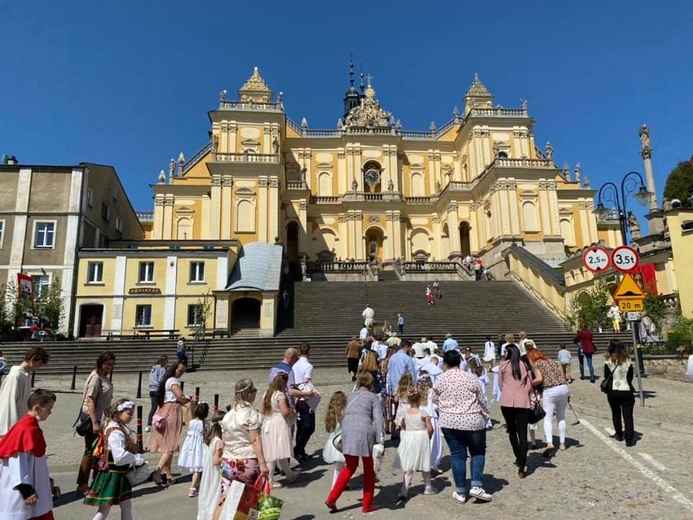
{"type": "Polygon", "coordinates": [[[50,416],[55,394],[37,389],[29,411],[0,440],[0,518],[53,520],[46,440],[39,421],[50,416]]]}

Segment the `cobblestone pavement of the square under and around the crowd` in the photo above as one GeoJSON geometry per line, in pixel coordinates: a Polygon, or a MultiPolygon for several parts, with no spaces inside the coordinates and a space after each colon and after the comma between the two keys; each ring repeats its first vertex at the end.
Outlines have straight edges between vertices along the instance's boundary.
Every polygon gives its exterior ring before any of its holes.
{"type": "MultiPolygon", "coordinates": [[[[601,367],[601,361],[601,358],[595,358],[595,366],[601,367]]],[[[574,367],[575,373],[579,373],[577,366],[574,367]]],[[[266,371],[198,372],[185,375],[185,391],[192,393],[199,386],[203,400],[211,402],[213,394],[219,393],[221,403],[228,403],[235,381],[248,376],[261,390],[266,386],[266,371]]],[[[316,457],[303,465],[304,473],[296,484],[276,491],[276,495],[286,501],[282,518],[361,518],[360,489],[344,493],[338,513],[327,512],[323,502],[329,492],[332,467],[319,457],[327,437],[321,427],[326,400],[336,390],[351,390],[352,383],[345,368],[316,370],[315,382],[325,400],[318,408],[318,426],[308,446],[308,451],[314,452],[316,457]]],[[[133,397],[137,375],[116,373],[114,384],[116,398],[133,397]]],[[[63,498],[57,501],[56,518],[91,518],[94,510],[81,505],[73,492],[82,439],[72,435],[71,424],[81,393],[69,391],[69,377],[50,376],[46,380],[37,377],[36,386],[61,392],[54,415],[43,425],[51,471],[64,493],[63,498]]],[[[493,501],[488,504],[472,501],[459,505],[451,500],[452,475],[447,449],[441,465],[445,472],[434,479],[440,492],[424,496],[420,478],[415,477],[410,500],[398,502],[401,475],[391,469],[396,448],[388,443],[376,490],[376,503],[382,509],[373,516],[413,519],[434,512],[438,518],[474,516],[478,519],[514,518],[518,514],[539,519],[585,518],[588,515],[597,519],[693,518],[692,461],[687,449],[687,444],[693,441],[693,400],[690,399],[693,386],[648,378],[644,380],[644,387],[646,406],[636,403],[635,409],[636,430],[641,437],[635,447],[626,448],[623,443],[609,438],[613,430],[599,385],[575,381],[571,385],[571,395],[580,415],[580,424],[571,425],[575,417],[568,412],[568,449],[550,459],[542,457],[541,448],[531,451],[529,475],[525,480],[517,478],[511,448],[501,425],[500,409],[493,405],[493,417],[500,423],[489,432],[487,441],[484,481],[486,490],[493,494],[493,501]]],[[[143,393],[145,399],[138,400],[138,404],[144,405],[146,414],[149,406],[146,384],[143,393]]],[[[540,425],[539,439],[543,437],[542,432],[540,425]]],[[[150,463],[156,464],[155,455],[148,458],[150,463]]],[[[164,491],[150,485],[138,488],[133,504],[135,518],[194,519],[196,501],[186,496],[189,478],[184,476],[179,484],[164,491]]],[[[360,483],[361,478],[357,476],[352,486],[358,488],[360,483]]],[[[117,508],[109,518],[120,518],[117,508]]]]}

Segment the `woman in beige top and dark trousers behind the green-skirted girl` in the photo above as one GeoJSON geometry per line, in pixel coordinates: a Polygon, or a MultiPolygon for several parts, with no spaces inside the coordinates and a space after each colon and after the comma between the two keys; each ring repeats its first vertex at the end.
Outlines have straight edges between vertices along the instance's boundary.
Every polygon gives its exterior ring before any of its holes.
{"type": "Polygon", "coordinates": [[[94,469],[92,455],[94,441],[99,436],[101,420],[113,401],[113,383],[108,377],[115,366],[115,354],[102,352],[96,359],[96,368],[84,383],[82,410],[78,418],[77,433],[84,437],[84,454],[77,473],[77,491],[89,491],[89,475],[94,469]],[[91,427],[90,427],[91,425],[91,427]]]}

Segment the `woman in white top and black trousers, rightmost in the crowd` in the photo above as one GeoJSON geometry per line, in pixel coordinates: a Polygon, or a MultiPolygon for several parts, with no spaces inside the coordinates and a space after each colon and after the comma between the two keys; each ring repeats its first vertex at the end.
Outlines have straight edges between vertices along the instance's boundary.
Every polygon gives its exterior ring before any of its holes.
{"type": "Polygon", "coordinates": [[[633,388],[633,364],[630,361],[628,347],[620,341],[611,341],[604,364],[604,384],[602,390],[611,407],[611,419],[614,423],[613,437],[626,446],[635,446],[635,425],[633,408],[635,406],[635,388],[633,388]],[[623,422],[621,422],[623,417],[623,422]],[[625,425],[625,437],[623,427],[625,425]]]}

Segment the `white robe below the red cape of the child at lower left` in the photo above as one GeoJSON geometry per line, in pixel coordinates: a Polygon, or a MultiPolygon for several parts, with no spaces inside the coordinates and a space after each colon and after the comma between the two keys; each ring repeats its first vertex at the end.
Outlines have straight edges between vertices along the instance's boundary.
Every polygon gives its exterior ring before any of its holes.
{"type": "Polygon", "coordinates": [[[53,493],[48,476],[48,457],[32,453],[16,453],[0,460],[0,518],[26,520],[44,515],[53,509],[53,493]],[[19,484],[29,484],[36,492],[33,506],[24,504],[22,494],[15,490],[19,484]]]}

